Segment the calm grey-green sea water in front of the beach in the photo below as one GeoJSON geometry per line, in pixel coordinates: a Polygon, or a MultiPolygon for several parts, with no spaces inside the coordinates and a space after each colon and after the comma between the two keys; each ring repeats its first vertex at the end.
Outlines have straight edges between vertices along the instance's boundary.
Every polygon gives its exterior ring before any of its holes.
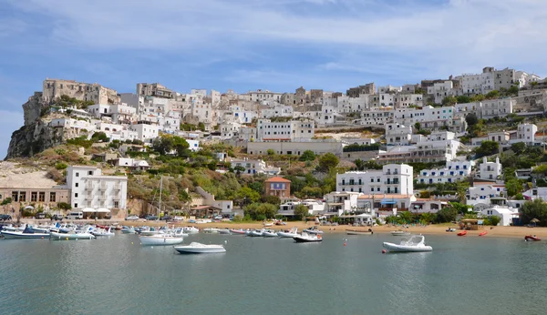
{"type": "Polygon", "coordinates": [[[143,248],[135,235],[0,240],[0,311],[178,314],[542,314],[547,242],[427,236],[429,253],[381,254],[388,235],[194,235],[225,254],[143,248]],[[344,239],[347,246],[344,246],[344,239]]]}

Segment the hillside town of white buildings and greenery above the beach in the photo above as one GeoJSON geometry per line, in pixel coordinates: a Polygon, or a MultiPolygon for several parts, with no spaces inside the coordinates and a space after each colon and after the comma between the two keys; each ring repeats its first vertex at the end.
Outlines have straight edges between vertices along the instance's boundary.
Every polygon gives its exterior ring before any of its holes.
{"type": "Polygon", "coordinates": [[[0,165],[2,211],[16,217],[518,225],[532,218],[525,200],[547,197],[547,80],[510,68],[345,93],[46,78],[23,109],[0,165]]]}

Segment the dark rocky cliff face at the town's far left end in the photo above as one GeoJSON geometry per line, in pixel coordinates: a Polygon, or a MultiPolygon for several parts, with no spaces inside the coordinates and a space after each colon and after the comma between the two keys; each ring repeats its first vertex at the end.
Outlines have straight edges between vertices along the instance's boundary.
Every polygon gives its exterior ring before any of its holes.
{"type": "Polygon", "coordinates": [[[64,127],[49,127],[53,116],[42,115],[48,105],[41,96],[36,92],[23,105],[25,126],[12,134],[5,159],[32,157],[48,147],[62,144],[70,137],[64,127]]]}

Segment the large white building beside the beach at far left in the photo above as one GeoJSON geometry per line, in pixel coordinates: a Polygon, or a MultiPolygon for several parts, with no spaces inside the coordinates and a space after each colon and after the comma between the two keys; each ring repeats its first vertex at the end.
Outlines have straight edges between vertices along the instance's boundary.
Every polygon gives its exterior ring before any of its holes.
{"type": "Polygon", "coordinates": [[[125,209],[127,207],[128,178],[104,176],[100,168],[68,167],[67,188],[71,189],[72,208],[125,209]]]}

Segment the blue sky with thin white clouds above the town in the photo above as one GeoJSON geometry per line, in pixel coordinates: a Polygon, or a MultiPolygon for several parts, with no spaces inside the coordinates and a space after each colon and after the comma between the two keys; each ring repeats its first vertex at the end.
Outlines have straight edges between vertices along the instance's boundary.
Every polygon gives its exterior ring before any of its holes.
{"type": "Polygon", "coordinates": [[[294,92],[547,74],[544,0],[2,0],[0,157],[46,78],[294,92]]]}

